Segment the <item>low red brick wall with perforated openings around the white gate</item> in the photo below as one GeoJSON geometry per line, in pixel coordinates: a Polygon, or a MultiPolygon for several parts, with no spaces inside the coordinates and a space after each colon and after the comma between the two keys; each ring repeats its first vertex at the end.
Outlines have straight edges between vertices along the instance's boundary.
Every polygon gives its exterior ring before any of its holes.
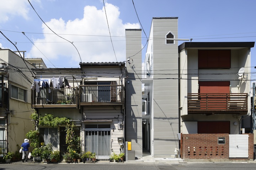
{"type": "MultiPolygon", "coordinates": [[[[249,157],[254,159],[254,134],[249,135],[249,157]]],[[[229,159],[229,134],[181,134],[181,158],[192,159],[229,159]],[[218,138],[225,138],[224,144],[218,138]]]]}

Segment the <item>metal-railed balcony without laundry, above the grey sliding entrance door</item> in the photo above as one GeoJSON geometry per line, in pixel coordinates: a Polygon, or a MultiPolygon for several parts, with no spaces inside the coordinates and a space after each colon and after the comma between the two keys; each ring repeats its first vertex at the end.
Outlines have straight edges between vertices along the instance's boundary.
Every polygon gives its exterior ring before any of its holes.
{"type": "Polygon", "coordinates": [[[80,85],[80,106],[122,105],[122,85],[80,85]]]}

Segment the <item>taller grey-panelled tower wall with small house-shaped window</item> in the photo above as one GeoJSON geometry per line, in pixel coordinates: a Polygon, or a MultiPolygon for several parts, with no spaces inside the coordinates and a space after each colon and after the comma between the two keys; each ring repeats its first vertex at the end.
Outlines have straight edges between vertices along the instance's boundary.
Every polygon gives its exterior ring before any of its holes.
{"type": "Polygon", "coordinates": [[[178,38],[177,26],[177,19],[153,19],[154,155],[174,154],[178,148],[178,80],[165,79],[178,77],[178,42],[165,44],[169,31],[178,38]],[[163,96],[165,91],[169,96],[163,96]]]}

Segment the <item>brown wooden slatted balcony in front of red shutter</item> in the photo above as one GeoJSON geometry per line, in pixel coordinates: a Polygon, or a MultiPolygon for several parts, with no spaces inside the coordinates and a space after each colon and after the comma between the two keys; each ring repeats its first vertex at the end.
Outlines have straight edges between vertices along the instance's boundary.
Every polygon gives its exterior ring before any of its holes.
{"type": "Polygon", "coordinates": [[[188,113],[248,112],[247,94],[188,94],[188,113]]]}

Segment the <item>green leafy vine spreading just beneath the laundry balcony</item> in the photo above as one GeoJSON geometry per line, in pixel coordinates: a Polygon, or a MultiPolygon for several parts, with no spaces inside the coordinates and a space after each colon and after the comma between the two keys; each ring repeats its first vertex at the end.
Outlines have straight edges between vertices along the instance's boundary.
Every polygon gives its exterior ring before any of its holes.
{"type": "Polygon", "coordinates": [[[54,117],[52,114],[46,114],[39,118],[39,125],[57,127],[58,125],[65,125],[69,123],[66,117],[54,117]]]}

